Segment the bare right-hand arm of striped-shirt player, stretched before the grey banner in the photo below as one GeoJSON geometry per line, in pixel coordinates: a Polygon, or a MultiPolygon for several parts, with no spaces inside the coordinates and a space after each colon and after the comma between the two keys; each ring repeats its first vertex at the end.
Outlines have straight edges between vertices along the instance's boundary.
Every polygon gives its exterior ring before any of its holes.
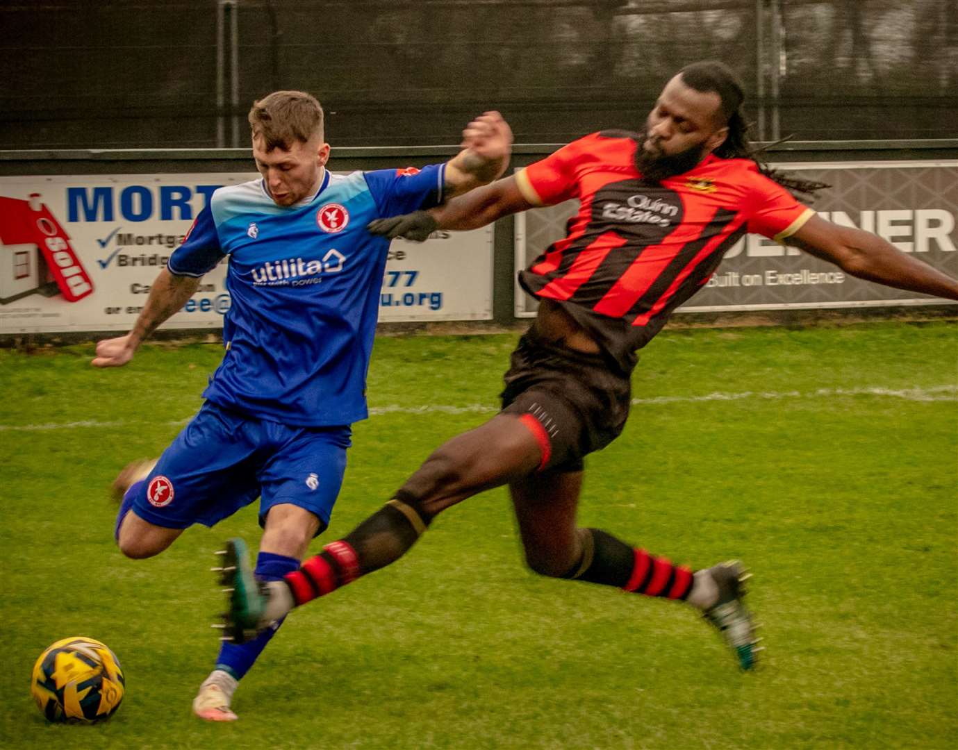
{"type": "Polygon", "coordinates": [[[871,232],[812,216],[786,241],[859,279],[958,300],[958,281],[871,232]]]}

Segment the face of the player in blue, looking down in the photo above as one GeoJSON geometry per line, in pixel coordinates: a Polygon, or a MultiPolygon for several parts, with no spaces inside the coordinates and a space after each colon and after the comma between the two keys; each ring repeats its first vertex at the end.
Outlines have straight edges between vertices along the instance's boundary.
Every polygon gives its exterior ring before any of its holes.
{"type": "Polygon", "coordinates": [[[296,141],[288,150],[278,147],[267,151],[262,138],[254,138],[253,158],[273,202],[291,206],[319,190],[330,145],[316,137],[307,143],[296,141]]]}

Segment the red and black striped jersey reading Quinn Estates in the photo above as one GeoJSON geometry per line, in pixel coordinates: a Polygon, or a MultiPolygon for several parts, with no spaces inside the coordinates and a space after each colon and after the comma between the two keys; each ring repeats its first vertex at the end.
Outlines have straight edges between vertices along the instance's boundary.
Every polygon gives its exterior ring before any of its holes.
{"type": "Polygon", "coordinates": [[[566,237],[519,283],[559,302],[625,372],[744,233],[781,241],[813,213],[751,159],[710,154],[693,170],[646,182],[638,143],[636,133],[593,133],[516,174],[535,205],[581,201],[566,237]]]}

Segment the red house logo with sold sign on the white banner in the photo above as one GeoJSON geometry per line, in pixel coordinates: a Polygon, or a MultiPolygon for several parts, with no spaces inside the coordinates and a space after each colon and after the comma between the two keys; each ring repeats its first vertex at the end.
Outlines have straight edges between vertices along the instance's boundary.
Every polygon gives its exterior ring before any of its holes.
{"type": "Polygon", "coordinates": [[[69,235],[40,203],[39,193],[30,200],[0,196],[0,305],[57,291],[67,302],[93,291],[69,235]]]}

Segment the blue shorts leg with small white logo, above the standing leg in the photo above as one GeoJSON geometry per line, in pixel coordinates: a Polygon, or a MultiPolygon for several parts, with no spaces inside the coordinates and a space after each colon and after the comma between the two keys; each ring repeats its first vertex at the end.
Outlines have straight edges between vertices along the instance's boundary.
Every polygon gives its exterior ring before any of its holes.
{"type": "MultiPolygon", "coordinates": [[[[281,429],[277,427],[277,429],[281,429]]],[[[260,467],[260,525],[266,525],[271,509],[293,505],[316,517],[307,541],[330,524],[332,507],[339,496],[346,472],[346,452],[351,443],[349,427],[285,428],[287,436],[260,467]]],[[[284,516],[286,513],[283,513],[284,516]]],[[[294,514],[295,516],[295,514],[294,514]]],[[[279,516],[277,517],[279,518],[279,516]]],[[[295,532],[295,523],[288,528],[295,532]]]]}

